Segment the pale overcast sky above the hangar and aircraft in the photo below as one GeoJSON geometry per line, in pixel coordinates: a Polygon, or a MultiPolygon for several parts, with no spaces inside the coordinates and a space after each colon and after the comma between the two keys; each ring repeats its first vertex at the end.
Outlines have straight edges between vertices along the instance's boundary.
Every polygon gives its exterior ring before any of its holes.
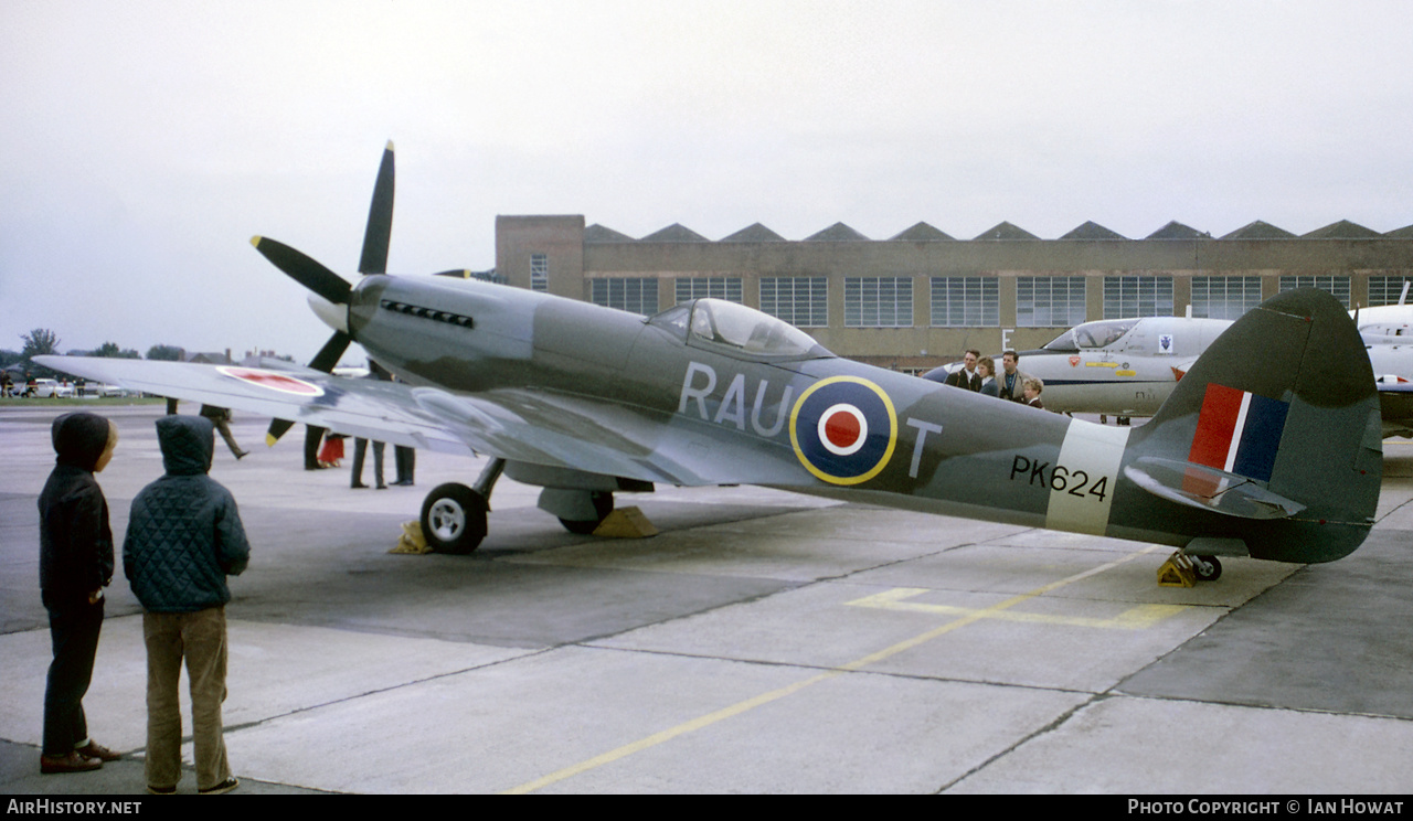
{"type": "Polygon", "coordinates": [[[0,0],[0,348],[307,360],[249,239],[355,277],[387,140],[394,273],[490,268],[497,213],[1388,232],[1410,44],[1402,0],[0,0]]]}

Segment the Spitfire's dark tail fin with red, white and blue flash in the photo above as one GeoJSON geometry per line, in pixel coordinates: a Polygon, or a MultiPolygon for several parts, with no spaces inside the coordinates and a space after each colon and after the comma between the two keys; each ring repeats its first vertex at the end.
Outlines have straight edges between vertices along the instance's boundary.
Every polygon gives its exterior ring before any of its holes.
{"type": "Polygon", "coordinates": [[[1352,553],[1383,465],[1373,372],[1344,307],[1301,288],[1249,311],[1133,431],[1126,461],[1149,492],[1205,509],[1201,536],[1256,558],[1352,553]]]}

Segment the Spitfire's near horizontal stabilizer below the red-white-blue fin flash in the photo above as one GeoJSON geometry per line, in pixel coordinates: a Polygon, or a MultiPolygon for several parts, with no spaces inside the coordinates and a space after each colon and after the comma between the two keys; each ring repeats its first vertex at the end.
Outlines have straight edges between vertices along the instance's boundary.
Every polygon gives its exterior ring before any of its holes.
{"type": "Polygon", "coordinates": [[[1224,516],[1289,519],[1306,509],[1253,479],[1194,462],[1142,456],[1123,475],[1154,496],[1224,516]]]}

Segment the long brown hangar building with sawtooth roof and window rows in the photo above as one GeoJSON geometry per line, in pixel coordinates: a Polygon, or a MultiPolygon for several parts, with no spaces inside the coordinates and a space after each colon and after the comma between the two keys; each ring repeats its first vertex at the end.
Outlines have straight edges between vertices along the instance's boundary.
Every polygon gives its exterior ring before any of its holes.
{"type": "Polygon", "coordinates": [[[671,225],[642,239],[582,215],[497,216],[496,274],[523,288],[640,314],[694,297],[780,317],[841,356],[921,372],[968,348],[1039,348],[1080,322],[1236,318],[1301,285],[1345,305],[1399,301],[1413,226],[1341,220],[1303,236],[1265,222],[1212,237],[1170,222],[1128,239],[1087,222],[1040,239],[1003,222],[958,240],[920,222],[886,240],[836,223],[787,240],[756,223],[721,240],[671,225]]]}

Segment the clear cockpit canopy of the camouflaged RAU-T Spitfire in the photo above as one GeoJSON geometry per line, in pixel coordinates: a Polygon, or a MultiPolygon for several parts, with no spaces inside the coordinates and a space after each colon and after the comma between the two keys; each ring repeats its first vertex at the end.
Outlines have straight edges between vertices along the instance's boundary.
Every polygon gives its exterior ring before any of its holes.
{"type": "Polygon", "coordinates": [[[821,359],[834,356],[812,336],[769,314],[725,300],[692,300],[649,318],[685,336],[688,345],[760,359],[821,359]]]}

